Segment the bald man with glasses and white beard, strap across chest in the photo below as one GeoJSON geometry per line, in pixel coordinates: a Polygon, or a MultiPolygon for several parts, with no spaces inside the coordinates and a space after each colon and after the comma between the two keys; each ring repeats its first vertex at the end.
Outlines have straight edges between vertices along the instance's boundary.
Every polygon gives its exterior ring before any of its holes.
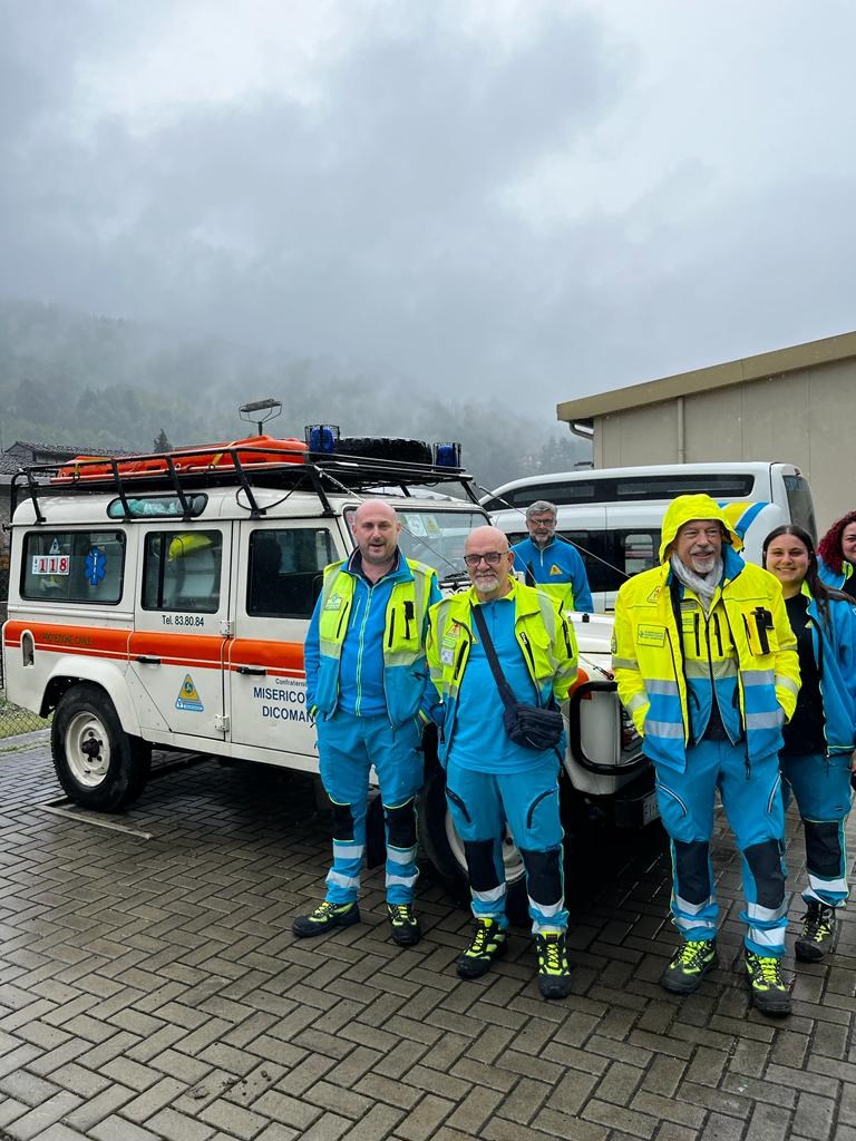
{"type": "Polygon", "coordinates": [[[533,750],[506,731],[504,704],[479,621],[518,702],[549,706],[576,681],[576,640],[556,600],[512,575],[514,555],[496,527],[477,527],[465,545],[473,583],[430,612],[428,662],[443,704],[439,756],[446,798],[463,840],[473,897],[473,939],[458,974],[475,979],[506,953],[506,822],[526,869],[538,978],[544,998],[571,990],[565,947],[563,832],[558,774],[565,739],[533,750]]]}

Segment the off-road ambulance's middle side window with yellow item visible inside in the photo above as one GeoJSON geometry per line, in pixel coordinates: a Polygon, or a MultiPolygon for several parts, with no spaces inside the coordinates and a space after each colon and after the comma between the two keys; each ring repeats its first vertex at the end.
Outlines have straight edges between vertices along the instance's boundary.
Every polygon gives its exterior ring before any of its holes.
{"type": "Polygon", "coordinates": [[[216,614],[221,567],[219,531],[150,532],[143,564],[143,609],[216,614]]]}

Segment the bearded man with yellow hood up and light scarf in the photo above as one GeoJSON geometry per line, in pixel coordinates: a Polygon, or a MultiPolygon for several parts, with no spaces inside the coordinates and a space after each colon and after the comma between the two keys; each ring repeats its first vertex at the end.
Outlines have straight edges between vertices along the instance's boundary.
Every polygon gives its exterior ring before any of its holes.
{"type": "Polygon", "coordinates": [[[788,1014],[778,751],[797,703],[799,664],[781,585],[744,563],[741,547],[710,496],[673,500],[661,566],[619,591],[613,669],[654,762],[671,839],[671,911],[683,944],[661,985],[691,994],[717,965],[710,839],[718,788],[743,859],[752,1001],[766,1013],[788,1014]]]}

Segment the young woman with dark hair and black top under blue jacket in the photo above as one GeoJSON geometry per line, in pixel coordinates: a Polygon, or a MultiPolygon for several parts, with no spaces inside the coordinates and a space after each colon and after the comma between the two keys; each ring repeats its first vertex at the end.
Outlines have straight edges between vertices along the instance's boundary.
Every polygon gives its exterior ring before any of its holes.
{"type": "Polygon", "coordinates": [[[794,947],[816,962],[830,950],[835,908],[847,899],[845,822],[856,768],[856,607],[819,577],[811,536],[802,527],[772,531],[764,565],[782,583],[797,637],[801,686],[783,728],[780,754],[785,804],[797,800],[806,837],[807,911],[794,947]]]}

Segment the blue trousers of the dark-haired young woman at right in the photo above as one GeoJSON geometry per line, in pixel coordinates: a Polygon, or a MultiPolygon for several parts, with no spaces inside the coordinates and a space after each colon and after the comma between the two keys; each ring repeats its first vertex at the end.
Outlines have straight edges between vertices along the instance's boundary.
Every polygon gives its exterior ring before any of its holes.
{"type": "Polygon", "coordinates": [[[850,754],[782,753],[782,792],[791,794],[806,834],[806,903],[840,907],[847,899],[845,822],[850,811],[850,754]]]}

